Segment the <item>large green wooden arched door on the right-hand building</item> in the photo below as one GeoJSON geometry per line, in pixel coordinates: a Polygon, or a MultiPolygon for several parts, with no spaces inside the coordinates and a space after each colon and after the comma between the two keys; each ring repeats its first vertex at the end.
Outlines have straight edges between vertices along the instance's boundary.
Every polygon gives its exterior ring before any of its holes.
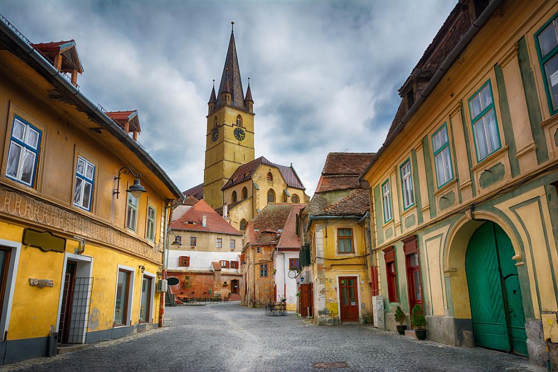
{"type": "Polygon", "coordinates": [[[525,312],[511,240],[496,223],[473,233],[465,271],[475,344],[527,356],[525,312]]]}

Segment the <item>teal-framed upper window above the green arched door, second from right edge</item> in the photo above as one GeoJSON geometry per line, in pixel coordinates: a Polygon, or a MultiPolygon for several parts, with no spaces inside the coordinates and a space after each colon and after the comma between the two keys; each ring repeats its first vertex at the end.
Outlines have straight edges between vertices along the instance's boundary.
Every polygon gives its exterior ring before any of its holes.
{"type": "Polygon", "coordinates": [[[469,111],[473,123],[477,160],[481,161],[501,147],[490,80],[469,98],[469,111]]]}

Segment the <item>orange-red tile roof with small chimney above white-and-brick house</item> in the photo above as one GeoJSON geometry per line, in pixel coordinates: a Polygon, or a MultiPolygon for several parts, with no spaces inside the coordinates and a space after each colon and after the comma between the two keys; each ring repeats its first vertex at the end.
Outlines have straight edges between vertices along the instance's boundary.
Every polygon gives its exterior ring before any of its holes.
{"type": "Polygon", "coordinates": [[[231,235],[243,235],[215,212],[203,200],[191,207],[175,222],[171,223],[172,230],[216,232],[231,235]],[[206,226],[202,226],[203,216],[206,216],[206,226]],[[189,223],[194,222],[194,223],[189,223]]]}

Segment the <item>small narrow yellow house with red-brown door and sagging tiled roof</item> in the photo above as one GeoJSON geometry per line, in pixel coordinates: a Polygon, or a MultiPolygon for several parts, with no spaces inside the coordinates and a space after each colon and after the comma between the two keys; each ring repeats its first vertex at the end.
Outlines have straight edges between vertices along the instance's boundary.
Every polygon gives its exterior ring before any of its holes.
{"type": "Polygon", "coordinates": [[[330,152],[300,214],[299,313],[319,325],[371,319],[370,203],[368,184],[357,177],[372,155],[330,152]]]}

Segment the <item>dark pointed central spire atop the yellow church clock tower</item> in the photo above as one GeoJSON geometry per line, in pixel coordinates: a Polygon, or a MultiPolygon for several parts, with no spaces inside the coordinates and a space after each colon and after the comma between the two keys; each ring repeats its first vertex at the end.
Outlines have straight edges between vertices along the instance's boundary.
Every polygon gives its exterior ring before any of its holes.
{"type": "MultiPolygon", "coordinates": [[[[234,25],[234,22],[231,23],[234,25]]],[[[240,79],[240,69],[238,67],[237,47],[234,43],[234,30],[230,32],[229,49],[227,50],[227,58],[225,59],[223,75],[219,84],[219,93],[217,94],[217,104],[215,104],[214,109],[223,106],[222,93],[225,88],[228,88],[231,94],[230,106],[247,110],[244,104],[244,90],[242,89],[242,80],[240,79]],[[225,87],[225,85],[228,85],[228,87],[225,87]]]]}

